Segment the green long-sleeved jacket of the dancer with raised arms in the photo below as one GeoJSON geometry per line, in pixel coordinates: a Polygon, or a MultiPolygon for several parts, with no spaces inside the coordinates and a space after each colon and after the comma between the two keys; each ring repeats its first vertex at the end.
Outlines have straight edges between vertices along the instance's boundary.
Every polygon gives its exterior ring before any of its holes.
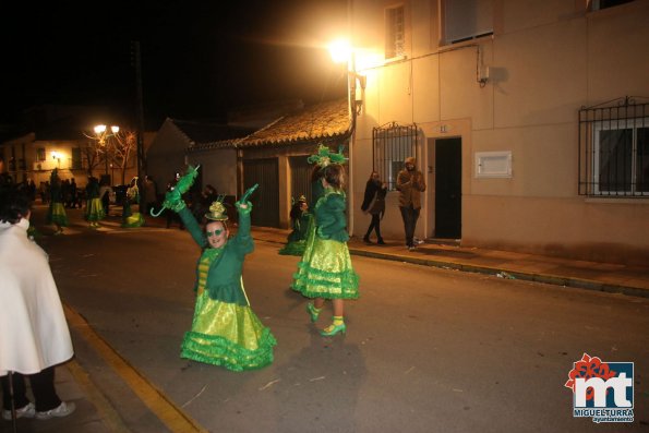
{"type": "MultiPolygon", "coordinates": [[[[245,254],[254,250],[254,242],[250,233],[250,212],[252,211],[252,204],[248,203],[248,208],[245,209],[237,206],[237,209],[239,212],[239,230],[225,244],[224,252],[209,265],[205,290],[208,292],[209,298],[214,300],[248,305],[245,293],[241,287],[241,272],[245,254]]],[[[185,207],[178,214],[199,246],[202,250],[208,248],[207,237],[191,211],[185,207]]],[[[199,263],[200,261],[199,258],[199,263]]],[[[196,263],[194,290],[197,289],[199,284],[199,263],[196,263]]]]}

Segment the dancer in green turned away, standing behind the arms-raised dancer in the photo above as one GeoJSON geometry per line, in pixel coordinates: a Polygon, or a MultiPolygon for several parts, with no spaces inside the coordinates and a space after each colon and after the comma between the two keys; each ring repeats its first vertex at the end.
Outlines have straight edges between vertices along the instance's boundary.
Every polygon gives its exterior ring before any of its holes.
{"type": "Polygon", "coordinates": [[[307,304],[311,322],[317,321],[325,300],[332,300],[333,322],[320,333],[334,336],[347,329],[344,300],[359,297],[359,276],[353,270],[347,246],[345,169],[340,164],[326,160],[322,173],[324,195],[315,204],[315,233],[307,242],[291,288],[313,299],[307,304]]]}

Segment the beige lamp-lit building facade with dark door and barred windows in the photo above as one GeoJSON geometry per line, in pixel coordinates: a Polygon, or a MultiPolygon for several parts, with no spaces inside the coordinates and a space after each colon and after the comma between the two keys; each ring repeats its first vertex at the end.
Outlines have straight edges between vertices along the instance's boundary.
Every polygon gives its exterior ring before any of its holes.
{"type": "Polygon", "coordinates": [[[649,1],[606,3],[351,1],[351,206],[377,170],[402,239],[394,181],[416,156],[419,238],[649,263],[649,1]]]}

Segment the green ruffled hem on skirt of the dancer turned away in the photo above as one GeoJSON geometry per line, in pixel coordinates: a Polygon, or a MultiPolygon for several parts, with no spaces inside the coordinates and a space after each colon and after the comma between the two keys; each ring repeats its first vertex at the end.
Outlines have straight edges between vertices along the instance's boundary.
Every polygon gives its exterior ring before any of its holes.
{"type": "Polygon", "coordinates": [[[359,275],[353,269],[328,272],[298,263],[291,289],[307,298],[358,299],[359,275]]]}

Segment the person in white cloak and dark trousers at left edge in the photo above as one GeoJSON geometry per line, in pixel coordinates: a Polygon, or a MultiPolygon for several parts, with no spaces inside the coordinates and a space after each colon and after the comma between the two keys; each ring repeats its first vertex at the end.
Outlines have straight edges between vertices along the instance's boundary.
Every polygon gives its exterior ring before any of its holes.
{"type": "Polygon", "coordinates": [[[48,256],[27,237],[29,199],[15,187],[0,191],[0,382],[2,418],[65,417],[74,402],[55,389],[55,366],[74,354],[48,256]],[[10,380],[11,388],[10,388],[10,380]],[[29,380],[34,402],[26,396],[29,380]]]}

